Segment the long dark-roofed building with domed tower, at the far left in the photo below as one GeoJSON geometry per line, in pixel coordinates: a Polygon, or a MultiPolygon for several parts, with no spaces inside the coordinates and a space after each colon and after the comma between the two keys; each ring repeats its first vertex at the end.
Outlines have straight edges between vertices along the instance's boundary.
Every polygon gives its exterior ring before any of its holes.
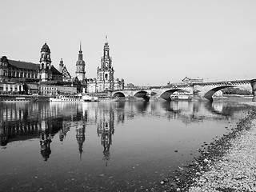
{"type": "MultiPolygon", "coordinates": [[[[65,82],[72,83],[70,73],[61,60],[58,70],[52,65],[50,48],[45,43],[40,51],[39,63],[21,62],[0,58],[0,93],[1,94],[56,94],[65,82]],[[56,90],[57,87],[57,90],[56,90]]],[[[73,93],[74,88],[66,86],[68,93],[73,93]]]]}

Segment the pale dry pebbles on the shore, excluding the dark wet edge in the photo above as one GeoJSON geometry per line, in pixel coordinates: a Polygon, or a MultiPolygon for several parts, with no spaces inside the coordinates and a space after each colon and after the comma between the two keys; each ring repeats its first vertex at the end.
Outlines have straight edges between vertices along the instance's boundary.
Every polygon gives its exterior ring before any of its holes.
{"type": "Polygon", "coordinates": [[[253,114],[238,123],[239,134],[230,139],[230,147],[218,161],[204,158],[203,162],[211,163],[209,170],[197,172],[188,191],[256,191],[256,110],[253,114]]]}

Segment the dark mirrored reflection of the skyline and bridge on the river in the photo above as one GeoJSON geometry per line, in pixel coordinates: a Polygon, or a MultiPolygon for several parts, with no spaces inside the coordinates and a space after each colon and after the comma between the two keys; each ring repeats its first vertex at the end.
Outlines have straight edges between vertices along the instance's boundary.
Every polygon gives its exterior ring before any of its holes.
{"type": "MultiPolygon", "coordinates": [[[[232,118],[234,112],[246,110],[246,106],[234,106],[223,102],[109,102],[109,103],[2,103],[0,111],[0,143],[39,138],[44,156],[49,158],[50,141],[58,133],[60,142],[70,130],[70,122],[76,125],[78,150],[86,139],[86,124],[97,124],[104,154],[108,156],[114,121],[125,123],[127,119],[144,116],[165,116],[191,123],[204,118],[232,118]],[[90,107],[88,107],[90,105],[90,107]]],[[[107,159],[107,158],[106,158],[107,159]]]]}

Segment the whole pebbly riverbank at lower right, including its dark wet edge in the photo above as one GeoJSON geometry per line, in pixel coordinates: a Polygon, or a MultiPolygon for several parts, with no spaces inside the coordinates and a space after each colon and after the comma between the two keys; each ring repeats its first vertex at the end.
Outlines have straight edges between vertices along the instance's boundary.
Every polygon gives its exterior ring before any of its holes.
{"type": "Polygon", "coordinates": [[[200,150],[200,157],[162,181],[165,191],[256,191],[256,103],[230,134],[200,150]]]}

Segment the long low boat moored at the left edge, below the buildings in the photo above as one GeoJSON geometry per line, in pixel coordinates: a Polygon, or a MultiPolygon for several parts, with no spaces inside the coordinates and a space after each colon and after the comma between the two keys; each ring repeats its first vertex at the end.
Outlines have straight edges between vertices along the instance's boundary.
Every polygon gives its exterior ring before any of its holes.
{"type": "Polygon", "coordinates": [[[0,102],[37,102],[38,97],[27,94],[1,94],[0,102]]]}

